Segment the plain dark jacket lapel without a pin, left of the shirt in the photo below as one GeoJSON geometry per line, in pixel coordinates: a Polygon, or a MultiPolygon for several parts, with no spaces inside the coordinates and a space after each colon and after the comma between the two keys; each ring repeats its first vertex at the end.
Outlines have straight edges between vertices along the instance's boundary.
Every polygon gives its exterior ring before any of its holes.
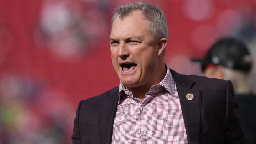
{"type": "Polygon", "coordinates": [[[119,87],[110,90],[108,94],[104,95],[104,100],[100,104],[99,128],[101,144],[111,144],[114,117],[118,103],[118,91],[119,87]]]}

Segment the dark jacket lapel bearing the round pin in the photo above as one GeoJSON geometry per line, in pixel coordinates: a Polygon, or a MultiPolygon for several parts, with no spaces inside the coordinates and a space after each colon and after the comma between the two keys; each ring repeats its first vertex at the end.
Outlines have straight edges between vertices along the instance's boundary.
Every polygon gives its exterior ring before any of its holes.
{"type": "Polygon", "coordinates": [[[201,117],[201,91],[192,89],[194,81],[186,76],[171,70],[174,77],[178,95],[181,103],[181,110],[184,118],[188,143],[199,143],[200,117],[201,117]],[[187,100],[187,94],[193,94],[193,100],[187,100]]]}

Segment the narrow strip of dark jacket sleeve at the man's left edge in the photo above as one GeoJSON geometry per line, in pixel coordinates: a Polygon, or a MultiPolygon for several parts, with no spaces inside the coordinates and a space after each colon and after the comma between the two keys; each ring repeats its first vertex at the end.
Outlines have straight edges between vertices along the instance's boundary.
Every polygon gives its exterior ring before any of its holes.
{"type": "Polygon", "coordinates": [[[81,100],[78,104],[78,108],[76,110],[76,117],[74,120],[74,127],[73,127],[73,134],[72,134],[72,144],[81,144],[80,142],[80,133],[79,133],[79,111],[80,111],[80,106],[82,104],[81,100]]]}

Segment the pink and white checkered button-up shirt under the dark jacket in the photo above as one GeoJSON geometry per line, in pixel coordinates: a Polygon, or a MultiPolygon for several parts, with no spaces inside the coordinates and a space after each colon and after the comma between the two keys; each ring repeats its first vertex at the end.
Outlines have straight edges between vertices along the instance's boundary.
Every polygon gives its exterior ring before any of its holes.
{"type": "Polygon", "coordinates": [[[144,101],[120,82],[112,144],[187,143],[180,99],[168,67],[165,78],[151,87],[144,101]]]}

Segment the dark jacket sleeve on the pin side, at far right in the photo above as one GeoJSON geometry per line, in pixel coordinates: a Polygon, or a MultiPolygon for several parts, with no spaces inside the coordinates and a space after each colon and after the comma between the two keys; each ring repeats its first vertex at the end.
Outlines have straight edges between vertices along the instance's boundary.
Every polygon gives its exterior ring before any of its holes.
{"type": "Polygon", "coordinates": [[[226,144],[248,144],[246,132],[242,126],[242,121],[238,115],[238,102],[234,98],[234,89],[230,80],[226,89],[226,144]]]}

